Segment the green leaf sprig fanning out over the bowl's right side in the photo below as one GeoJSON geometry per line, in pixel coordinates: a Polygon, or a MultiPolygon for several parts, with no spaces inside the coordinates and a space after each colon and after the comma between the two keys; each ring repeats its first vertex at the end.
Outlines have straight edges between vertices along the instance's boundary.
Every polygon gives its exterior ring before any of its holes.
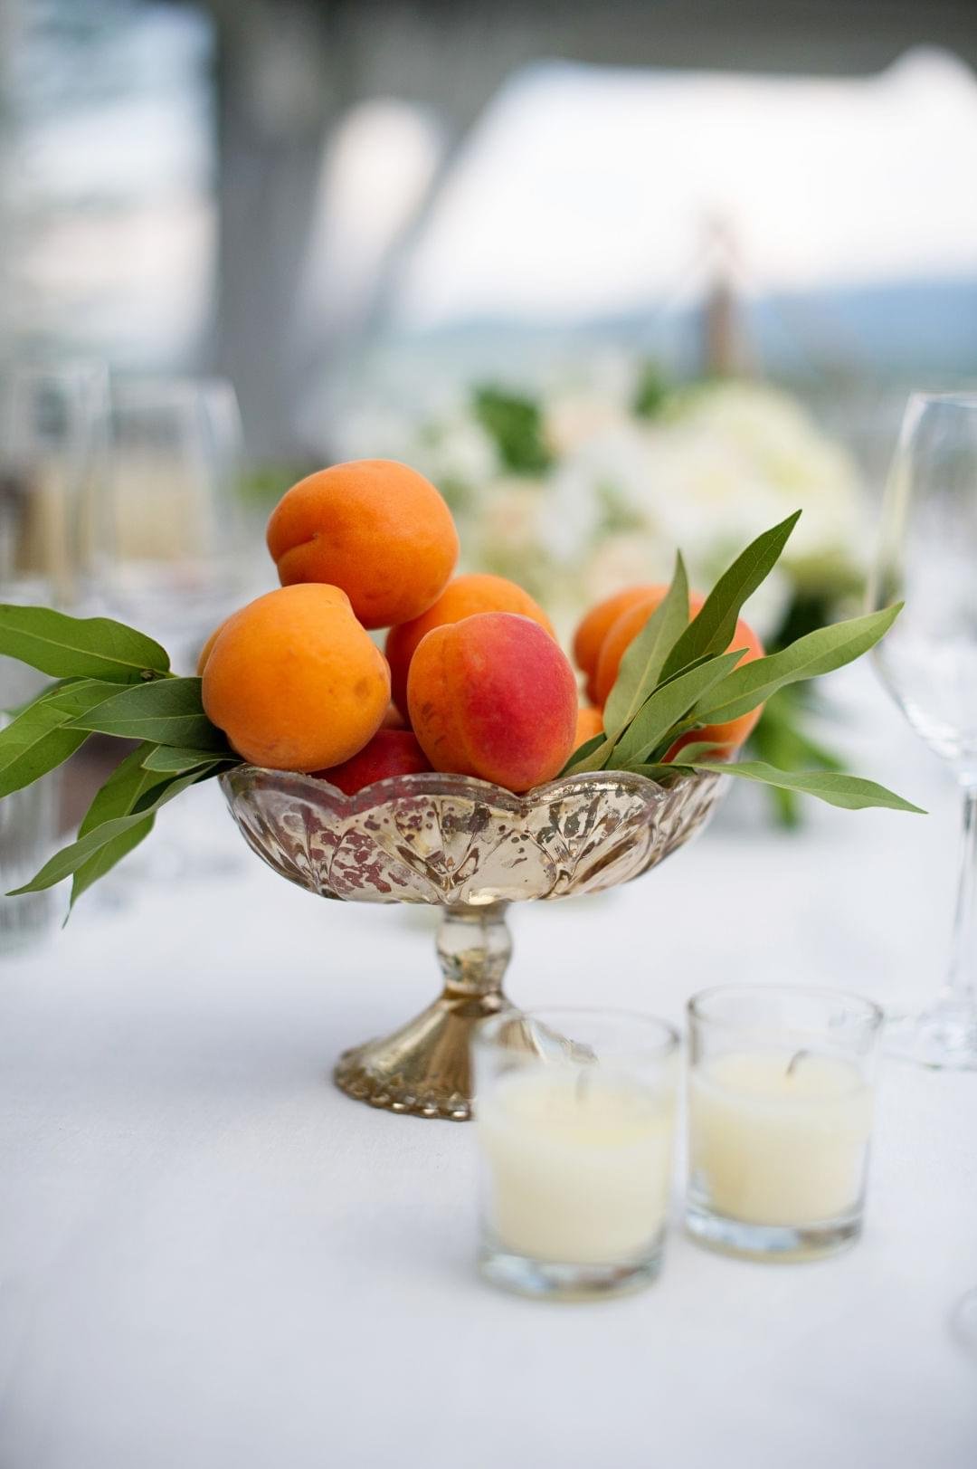
{"type": "Polygon", "coordinates": [[[671,783],[695,771],[721,771],[780,790],[802,792],[848,809],[920,811],[876,782],[845,771],[783,771],[763,761],[724,761],[696,730],[760,708],[779,689],[842,668],[892,627],[901,604],[820,627],[780,652],[740,664],[730,649],[743,602],[770,574],[801,511],[757,536],[718,579],[695,617],[682,557],[671,583],[621,658],[604,707],[604,733],[567,761],[563,774],[626,770],[671,783]],[[727,652],[727,649],[730,649],[727,652]],[[683,740],[674,758],[670,752],[683,740]]]}

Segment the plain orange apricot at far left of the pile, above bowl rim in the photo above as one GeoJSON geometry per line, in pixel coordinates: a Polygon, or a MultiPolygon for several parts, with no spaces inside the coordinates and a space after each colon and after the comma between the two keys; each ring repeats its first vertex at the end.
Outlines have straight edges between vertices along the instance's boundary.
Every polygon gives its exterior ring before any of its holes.
{"type": "Polygon", "coordinates": [[[350,759],[389,705],[386,660],[335,586],[282,586],[223,624],[203,673],[207,717],[272,770],[350,759]]]}

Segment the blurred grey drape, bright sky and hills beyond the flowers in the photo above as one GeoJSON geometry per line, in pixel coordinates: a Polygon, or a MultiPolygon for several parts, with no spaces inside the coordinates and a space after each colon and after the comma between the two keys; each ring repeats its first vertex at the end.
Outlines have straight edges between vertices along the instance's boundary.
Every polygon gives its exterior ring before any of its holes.
{"type": "Polygon", "coordinates": [[[977,372],[970,0],[0,16],[4,355],[223,375],[253,466],[608,348],[865,448],[880,397],[977,372]]]}

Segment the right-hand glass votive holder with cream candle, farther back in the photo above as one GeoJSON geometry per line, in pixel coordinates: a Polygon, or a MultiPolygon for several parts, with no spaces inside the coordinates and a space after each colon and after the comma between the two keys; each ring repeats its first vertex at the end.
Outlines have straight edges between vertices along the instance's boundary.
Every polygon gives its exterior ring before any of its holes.
{"type": "Polygon", "coordinates": [[[689,1002],[686,1228],[757,1259],[861,1234],[882,1011],[830,989],[730,984],[689,1002]]]}

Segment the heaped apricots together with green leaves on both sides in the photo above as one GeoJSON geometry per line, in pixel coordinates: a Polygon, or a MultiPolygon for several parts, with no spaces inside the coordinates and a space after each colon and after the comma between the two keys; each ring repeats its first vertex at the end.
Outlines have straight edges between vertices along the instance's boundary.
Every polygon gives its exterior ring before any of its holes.
{"type": "Polygon", "coordinates": [[[458,576],[438,491],[388,460],[336,464],[294,485],[267,545],[282,586],[207,639],[197,677],[154,639],[104,617],[0,605],[0,655],[56,682],[0,729],[0,798],[69,759],[90,734],[137,740],[95,793],[78,839],[16,892],[72,878],[72,903],[141,842],[156,812],[241,761],[322,777],[348,795],[445,771],[524,792],[560,774],[633,771],[660,783],[729,771],[836,806],[915,811],[839,771],[785,771],[730,755],[765,699],[858,658],[898,607],[818,627],[765,655],[739,616],[798,516],[757,536],[707,596],[639,586],[594,607],[573,652],[500,576],[458,576]],[[385,654],[370,636],[388,629],[385,654]]]}

